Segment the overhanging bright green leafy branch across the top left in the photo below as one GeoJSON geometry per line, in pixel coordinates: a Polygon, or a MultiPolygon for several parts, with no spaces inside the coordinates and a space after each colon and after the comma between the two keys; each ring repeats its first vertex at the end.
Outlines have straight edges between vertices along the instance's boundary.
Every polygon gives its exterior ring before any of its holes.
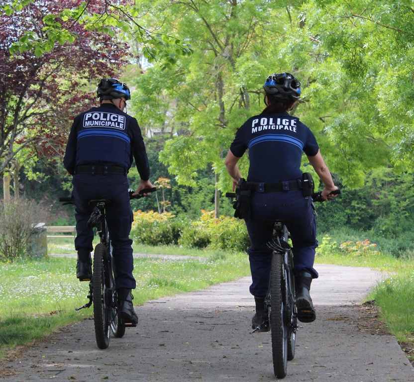
{"type": "MultiPolygon", "coordinates": [[[[38,0],[1,1],[0,12],[15,16],[30,12],[39,4],[42,2],[38,0]]],[[[166,68],[175,63],[176,55],[191,54],[191,46],[185,39],[178,40],[168,34],[144,29],[137,20],[147,11],[131,0],[67,0],[61,6],[45,6],[41,33],[34,28],[26,29],[27,24],[20,24],[22,34],[12,42],[10,53],[33,51],[36,57],[40,57],[50,52],[56,44],[76,42],[81,29],[84,32],[95,31],[106,37],[118,35],[135,41],[143,47],[143,54],[148,61],[162,61],[166,68]]]]}

